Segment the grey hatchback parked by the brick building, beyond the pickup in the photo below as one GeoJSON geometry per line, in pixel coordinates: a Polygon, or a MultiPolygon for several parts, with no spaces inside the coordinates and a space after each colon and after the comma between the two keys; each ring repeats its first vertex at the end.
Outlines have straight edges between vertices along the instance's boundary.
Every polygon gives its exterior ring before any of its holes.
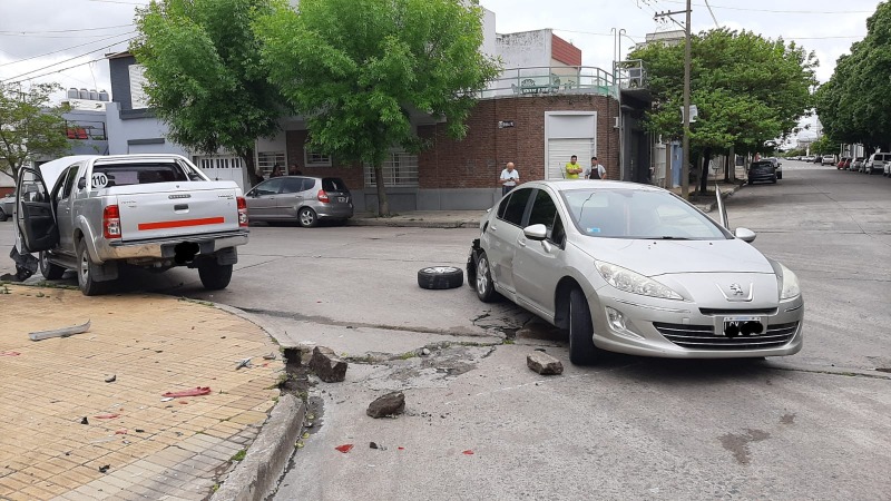
{"type": "Polygon", "coordinates": [[[353,196],[337,177],[282,176],[254,186],[247,195],[252,220],[297,222],[305,228],[353,217],[353,196]]]}

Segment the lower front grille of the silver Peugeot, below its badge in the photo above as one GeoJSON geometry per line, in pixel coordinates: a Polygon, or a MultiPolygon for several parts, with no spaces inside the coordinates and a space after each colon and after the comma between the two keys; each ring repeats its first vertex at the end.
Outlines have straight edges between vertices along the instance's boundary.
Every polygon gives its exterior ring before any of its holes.
{"type": "Polygon", "coordinates": [[[768,325],[761,334],[728,337],[716,335],[713,325],[683,325],[654,322],[653,326],[672,343],[691,350],[768,350],[792,340],[799,323],[768,325]]]}

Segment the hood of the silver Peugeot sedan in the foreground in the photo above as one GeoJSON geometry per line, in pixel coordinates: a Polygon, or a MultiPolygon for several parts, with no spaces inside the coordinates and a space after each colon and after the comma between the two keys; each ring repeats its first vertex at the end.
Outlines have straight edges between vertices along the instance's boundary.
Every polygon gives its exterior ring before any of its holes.
{"type": "Polygon", "coordinates": [[[740,239],[638,240],[581,238],[580,248],[605,261],[654,277],[678,273],[770,273],[771,263],[740,239]]]}

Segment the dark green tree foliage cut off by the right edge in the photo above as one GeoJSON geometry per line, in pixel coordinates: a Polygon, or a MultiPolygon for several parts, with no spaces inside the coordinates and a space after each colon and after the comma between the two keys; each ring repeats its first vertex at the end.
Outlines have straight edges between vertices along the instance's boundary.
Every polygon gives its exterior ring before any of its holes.
{"type": "Polygon", "coordinates": [[[834,141],[888,149],[891,141],[891,3],[868,20],[866,37],[840,57],[830,80],[816,91],[823,132],[834,141]]]}

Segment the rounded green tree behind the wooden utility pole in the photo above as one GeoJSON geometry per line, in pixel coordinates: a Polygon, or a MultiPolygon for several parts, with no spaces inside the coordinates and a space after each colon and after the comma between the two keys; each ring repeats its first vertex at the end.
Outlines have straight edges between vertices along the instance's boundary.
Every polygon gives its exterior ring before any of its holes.
{"type": "MultiPolygon", "coordinates": [[[[794,42],[768,40],[750,31],[717,29],[692,36],[691,102],[698,117],[691,126],[691,151],[699,157],[699,190],[707,181],[714,151],[764,150],[766,141],[786,136],[811,108],[817,62],[794,42]]],[[[684,46],[650,43],[629,56],[647,68],[654,108],[647,128],[664,138],[681,138],[684,46]]]]}

